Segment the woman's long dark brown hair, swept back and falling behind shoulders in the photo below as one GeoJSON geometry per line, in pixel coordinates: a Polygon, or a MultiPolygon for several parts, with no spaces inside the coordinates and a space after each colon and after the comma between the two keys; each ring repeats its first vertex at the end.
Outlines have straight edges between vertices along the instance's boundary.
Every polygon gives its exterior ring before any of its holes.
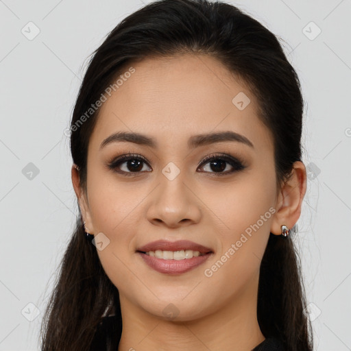
{"type": "MultiPolygon", "coordinates": [[[[302,156],[304,102],[298,76],[276,36],[227,3],[160,0],[126,17],[92,54],[71,120],[71,153],[82,190],[89,138],[99,112],[90,106],[136,60],[194,53],[217,58],[250,86],[259,118],[274,140],[277,189],[289,178],[293,162],[302,156]]],[[[122,330],[119,291],[86,240],[81,213],[59,273],[43,318],[42,350],[89,350],[106,315],[116,316],[107,337],[108,350],[117,350],[122,330]]],[[[293,241],[270,234],[258,283],[258,324],[266,338],[280,339],[287,351],[313,350],[304,294],[293,241]]]]}

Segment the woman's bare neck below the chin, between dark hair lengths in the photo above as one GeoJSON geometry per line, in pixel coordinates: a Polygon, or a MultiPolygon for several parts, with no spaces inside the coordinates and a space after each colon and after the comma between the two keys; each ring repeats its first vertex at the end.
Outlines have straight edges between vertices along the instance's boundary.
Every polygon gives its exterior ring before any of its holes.
{"type": "Polygon", "coordinates": [[[258,276],[221,308],[192,320],[165,320],[120,295],[123,330],[119,351],[250,351],[263,340],[257,321],[258,276]]]}

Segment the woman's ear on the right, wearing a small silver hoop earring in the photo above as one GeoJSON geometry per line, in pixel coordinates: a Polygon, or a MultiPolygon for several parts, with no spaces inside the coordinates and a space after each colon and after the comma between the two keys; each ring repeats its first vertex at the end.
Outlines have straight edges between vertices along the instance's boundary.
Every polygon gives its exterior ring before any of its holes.
{"type": "Polygon", "coordinates": [[[289,229],[295,226],[301,214],[302,200],[306,193],[306,167],[302,161],[293,164],[291,178],[280,189],[276,203],[276,213],[271,221],[271,233],[282,234],[282,225],[289,229]]]}

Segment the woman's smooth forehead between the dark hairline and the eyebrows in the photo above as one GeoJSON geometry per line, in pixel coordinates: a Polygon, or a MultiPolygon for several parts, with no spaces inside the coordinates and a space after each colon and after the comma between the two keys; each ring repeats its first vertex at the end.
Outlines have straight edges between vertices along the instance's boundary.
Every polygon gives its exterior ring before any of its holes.
{"type": "Polygon", "coordinates": [[[223,130],[251,141],[260,135],[269,143],[269,132],[258,119],[256,97],[213,57],[147,58],[125,66],[123,72],[124,79],[99,111],[90,139],[95,147],[121,130],[172,145],[193,134],[223,130]],[[131,68],[134,73],[124,75],[131,68]]]}

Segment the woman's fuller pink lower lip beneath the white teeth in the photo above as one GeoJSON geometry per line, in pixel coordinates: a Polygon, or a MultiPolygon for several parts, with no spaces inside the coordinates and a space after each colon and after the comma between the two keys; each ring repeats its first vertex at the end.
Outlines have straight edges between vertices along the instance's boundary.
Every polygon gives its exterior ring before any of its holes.
{"type": "Polygon", "coordinates": [[[164,274],[181,274],[186,271],[202,265],[210,256],[211,252],[203,256],[197,256],[193,258],[184,258],[184,260],[164,260],[163,258],[156,258],[155,256],[149,256],[143,254],[143,252],[137,252],[144,260],[155,271],[164,274]]]}

